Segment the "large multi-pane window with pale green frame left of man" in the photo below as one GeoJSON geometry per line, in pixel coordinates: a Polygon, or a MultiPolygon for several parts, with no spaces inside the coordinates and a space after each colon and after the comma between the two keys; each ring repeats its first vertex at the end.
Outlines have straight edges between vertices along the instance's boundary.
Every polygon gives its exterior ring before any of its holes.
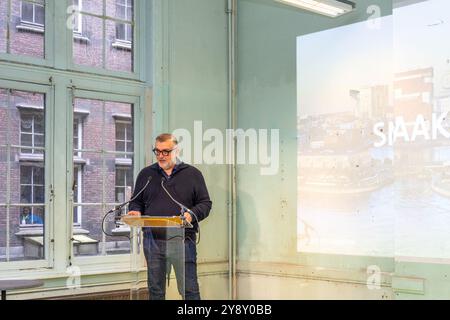
{"type": "Polygon", "coordinates": [[[117,256],[129,252],[128,239],[106,236],[101,221],[131,193],[134,132],[144,132],[132,121],[147,87],[134,72],[145,69],[134,65],[144,24],[135,5],[150,8],[142,0],[0,0],[0,273],[129,265],[117,256]],[[74,258],[81,255],[94,257],[74,258]]]}

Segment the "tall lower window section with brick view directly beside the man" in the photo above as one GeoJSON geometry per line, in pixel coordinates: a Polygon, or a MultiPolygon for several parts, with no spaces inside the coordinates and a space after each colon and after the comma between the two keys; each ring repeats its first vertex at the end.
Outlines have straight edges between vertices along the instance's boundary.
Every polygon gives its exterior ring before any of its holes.
{"type": "MultiPolygon", "coordinates": [[[[82,98],[74,101],[74,236],[82,232],[83,239],[91,242],[89,250],[84,251],[74,243],[75,256],[129,252],[129,242],[106,237],[101,223],[107,211],[131,195],[132,110],[133,105],[128,103],[82,98]],[[84,114],[82,135],[80,118],[76,116],[80,112],[84,114]]],[[[106,228],[110,233],[114,226],[106,228]]]]}

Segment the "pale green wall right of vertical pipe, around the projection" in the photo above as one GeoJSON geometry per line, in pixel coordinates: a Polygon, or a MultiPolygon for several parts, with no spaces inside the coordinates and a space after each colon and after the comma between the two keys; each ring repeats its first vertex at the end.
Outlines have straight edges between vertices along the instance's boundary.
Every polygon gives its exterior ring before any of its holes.
{"type": "MultiPolygon", "coordinates": [[[[382,15],[391,14],[390,1],[357,1],[357,10],[337,19],[271,0],[238,1],[238,127],[279,128],[281,139],[277,175],[261,176],[258,167],[238,168],[238,269],[250,283],[252,276],[279,283],[297,279],[298,291],[280,291],[273,298],[317,298],[318,292],[339,297],[342,290],[354,298],[391,295],[389,278],[383,278],[384,287],[378,292],[369,292],[365,285],[368,266],[378,265],[390,273],[393,258],[297,253],[296,37],[366,20],[369,5],[379,5],[382,15]],[[314,294],[308,296],[300,289],[305,279],[336,281],[340,286],[321,291],[319,282],[316,289],[310,283],[314,294]]],[[[258,287],[254,287],[241,285],[240,295],[255,297],[258,287]]]]}

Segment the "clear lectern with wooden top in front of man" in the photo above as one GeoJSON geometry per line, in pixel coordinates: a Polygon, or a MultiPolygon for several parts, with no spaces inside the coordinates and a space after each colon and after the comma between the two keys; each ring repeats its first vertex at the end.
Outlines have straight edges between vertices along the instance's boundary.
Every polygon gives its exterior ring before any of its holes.
{"type": "MultiPolygon", "coordinates": [[[[134,277],[130,289],[131,300],[141,300],[139,296],[139,271],[140,271],[140,257],[141,257],[141,243],[142,243],[142,228],[156,228],[158,230],[164,229],[165,239],[164,250],[168,261],[174,266],[177,273],[178,292],[184,297],[184,229],[192,228],[192,225],[183,219],[181,216],[130,216],[124,215],[121,221],[130,226],[130,259],[131,259],[131,273],[134,277]]],[[[150,234],[152,230],[150,230],[150,234]]],[[[159,239],[161,240],[161,239],[159,239]]],[[[146,240],[148,241],[148,240],[146,240]]],[[[149,242],[150,243],[150,242],[149,242]]],[[[151,245],[156,245],[151,242],[151,245]]],[[[171,267],[168,265],[168,268],[171,267]]]]}

